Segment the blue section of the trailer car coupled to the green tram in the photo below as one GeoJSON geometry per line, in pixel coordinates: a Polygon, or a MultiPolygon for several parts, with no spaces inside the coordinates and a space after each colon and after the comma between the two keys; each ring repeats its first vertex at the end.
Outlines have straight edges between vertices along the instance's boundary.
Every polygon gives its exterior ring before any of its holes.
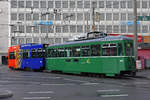
{"type": "Polygon", "coordinates": [[[45,48],[48,44],[22,44],[21,69],[43,70],[45,68],[45,48]]]}

